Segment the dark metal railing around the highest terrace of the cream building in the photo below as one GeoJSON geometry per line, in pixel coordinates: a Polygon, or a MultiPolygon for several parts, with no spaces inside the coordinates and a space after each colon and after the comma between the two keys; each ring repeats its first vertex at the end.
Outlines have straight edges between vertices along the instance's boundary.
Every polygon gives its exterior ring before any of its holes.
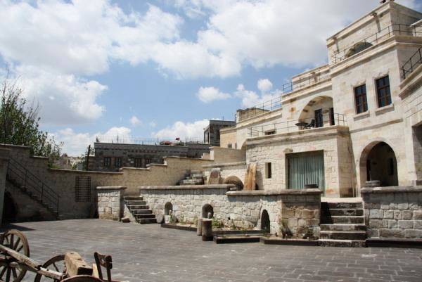
{"type": "Polygon", "coordinates": [[[417,27],[416,25],[402,25],[399,23],[389,25],[388,27],[384,27],[379,32],[371,34],[369,37],[362,39],[356,44],[347,46],[342,50],[336,51],[332,56],[331,62],[340,63],[342,60],[345,60],[353,56],[354,54],[364,51],[364,49],[378,44],[378,41],[388,39],[394,35],[422,37],[422,30],[421,27],[417,27]]]}

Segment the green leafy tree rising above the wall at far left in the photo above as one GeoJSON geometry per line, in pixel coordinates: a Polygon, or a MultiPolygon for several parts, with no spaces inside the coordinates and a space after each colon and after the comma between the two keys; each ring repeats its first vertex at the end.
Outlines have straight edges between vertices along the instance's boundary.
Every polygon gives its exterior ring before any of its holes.
{"type": "Polygon", "coordinates": [[[0,89],[0,143],[28,146],[32,155],[49,158],[49,165],[60,157],[62,143],[39,130],[38,105],[23,98],[23,90],[8,77],[0,89]]]}

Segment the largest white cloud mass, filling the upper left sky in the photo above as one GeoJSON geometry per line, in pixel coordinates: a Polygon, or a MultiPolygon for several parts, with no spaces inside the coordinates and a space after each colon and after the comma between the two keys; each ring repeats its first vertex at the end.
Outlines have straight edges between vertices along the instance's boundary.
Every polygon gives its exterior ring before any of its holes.
{"type": "Polygon", "coordinates": [[[108,71],[113,60],[151,60],[156,44],[179,39],[182,23],[156,6],[124,13],[107,0],[0,0],[0,18],[0,56],[39,101],[46,124],[101,117],[97,99],[107,86],[85,77],[108,71]]]}

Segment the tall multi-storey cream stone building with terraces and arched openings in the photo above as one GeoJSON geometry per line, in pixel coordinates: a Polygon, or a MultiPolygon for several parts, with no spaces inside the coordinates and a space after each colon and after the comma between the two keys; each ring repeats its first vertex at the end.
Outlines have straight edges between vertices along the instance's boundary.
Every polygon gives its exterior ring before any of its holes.
{"type": "Polygon", "coordinates": [[[421,185],[421,18],[387,1],[329,37],[328,63],[238,110],[221,146],[245,150],[264,190],[317,184],[350,197],[371,180],[421,185]]]}

